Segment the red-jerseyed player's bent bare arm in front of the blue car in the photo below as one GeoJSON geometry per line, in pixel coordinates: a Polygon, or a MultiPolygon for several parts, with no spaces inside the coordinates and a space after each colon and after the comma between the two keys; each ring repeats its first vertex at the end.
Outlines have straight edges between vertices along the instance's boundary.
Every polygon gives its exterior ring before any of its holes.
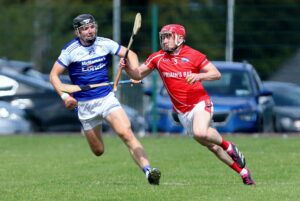
{"type": "Polygon", "coordinates": [[[200,73],[192,73],[186,77],[186,81],[189,84],[198,82],[198,81],[211,81],[211,80],[219,80],[221,78],[220,71],[216,68],[216,66],[209,62],[206,64],[200,73]]]}

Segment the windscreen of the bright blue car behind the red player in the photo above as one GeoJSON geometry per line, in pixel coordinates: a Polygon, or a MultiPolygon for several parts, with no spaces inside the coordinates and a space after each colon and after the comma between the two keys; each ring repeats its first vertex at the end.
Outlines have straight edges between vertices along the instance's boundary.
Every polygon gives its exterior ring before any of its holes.
{"type": "Polygon", "coordinates": [[[221,74],[220,80],[202,82],[209,95],[241,97],[253,94],[247,71],[222,70],[221,74]]]}

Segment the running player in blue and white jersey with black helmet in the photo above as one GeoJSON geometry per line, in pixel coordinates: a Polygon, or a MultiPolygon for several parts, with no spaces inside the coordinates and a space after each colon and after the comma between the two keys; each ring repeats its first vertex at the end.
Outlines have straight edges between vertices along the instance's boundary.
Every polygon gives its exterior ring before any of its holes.
{"type": "MultiPolygon", "coordinates": [[[[134,136],[130,121],[112,92],[111,86],[98,87],[69,95],[60,91],[60,75],[68,70],[75,85],[108,82],[108,56],[125,56],[126,48],[117,42],[97,36],[97,22],[90,14],[74,18],[74,40],[61,51],[50,72],[50,81],[68,109],[78,107],[78,118],[86,139],[96,156],[104,153],[101,137],[102,120],[106,120],[127,145],[133,160],[143,170],[150,184],[158,185],[161,176],[157,168],[151,168],[143,146],[134,136]]],[[[129,62],[138,62],[137,55],[129,51],[129,62]]]]}

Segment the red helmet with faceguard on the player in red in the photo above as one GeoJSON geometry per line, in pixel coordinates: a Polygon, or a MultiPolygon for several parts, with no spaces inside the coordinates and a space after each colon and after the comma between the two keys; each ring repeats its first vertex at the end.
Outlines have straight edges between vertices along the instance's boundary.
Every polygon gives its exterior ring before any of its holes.
{"type": "Polygon", "coordinates": [[[166,52],[173,52],[185,42],[185,35],[185,28],[179,24],[169,24],[163,26],[161,31],[159,32],[159,40],[162,50],[166,52]],[[169,37],[174,37],[174,48],[166,48],[163,44],[164,39],[169,37]]]}

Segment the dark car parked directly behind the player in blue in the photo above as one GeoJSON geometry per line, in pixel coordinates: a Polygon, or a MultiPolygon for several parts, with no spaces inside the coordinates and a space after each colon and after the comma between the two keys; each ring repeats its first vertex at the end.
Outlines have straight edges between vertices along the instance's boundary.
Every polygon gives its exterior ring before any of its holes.
{"type": "MultiPolygon", "coordinates": [[[[80,131],[81,124],[77,112],[65,108],[50,82],[15,71],[1,70],[0,83],[6,83],[0,89],[0,100],[23,109],[28,115],[34,130],[39,132],[80,131]]],[[[133,108],[123,105],[131,121],[134,132],[142,135],[145,132],[143,117],[133,108]]],[[[109,131],[106,122],[103,131],[109,131]]]]}

